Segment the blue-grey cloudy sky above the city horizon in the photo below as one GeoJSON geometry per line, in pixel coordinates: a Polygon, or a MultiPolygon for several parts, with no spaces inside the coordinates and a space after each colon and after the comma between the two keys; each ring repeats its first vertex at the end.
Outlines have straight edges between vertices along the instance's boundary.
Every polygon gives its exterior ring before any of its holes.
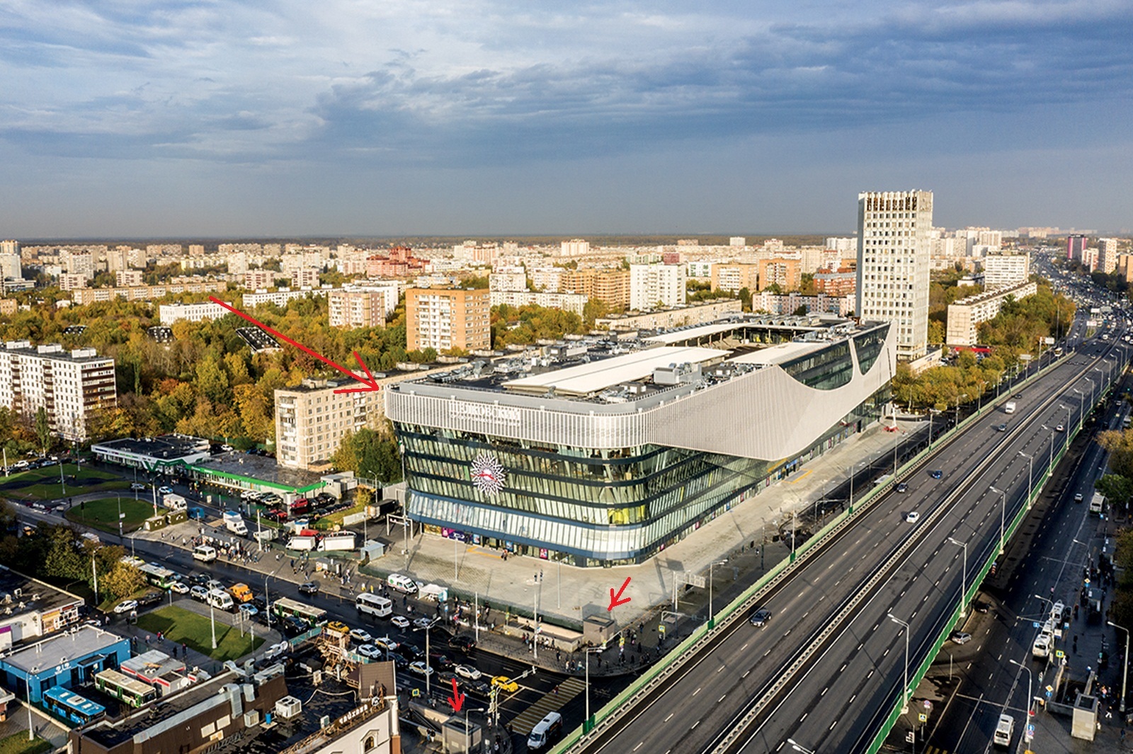
{"type": "Polygon", "coordinates": [[[0,0],[0,235],[1133,228],[1133,0],[0,0]]]}

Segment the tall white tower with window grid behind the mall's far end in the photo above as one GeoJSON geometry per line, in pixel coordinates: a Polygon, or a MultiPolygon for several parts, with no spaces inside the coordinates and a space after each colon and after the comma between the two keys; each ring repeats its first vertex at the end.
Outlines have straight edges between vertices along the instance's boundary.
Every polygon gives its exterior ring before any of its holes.
{"type": "Polygon", "coordinates": [[[931,191],[858,195],[858,316],[891,322],[897,358],[928,350],[931,191]]]}

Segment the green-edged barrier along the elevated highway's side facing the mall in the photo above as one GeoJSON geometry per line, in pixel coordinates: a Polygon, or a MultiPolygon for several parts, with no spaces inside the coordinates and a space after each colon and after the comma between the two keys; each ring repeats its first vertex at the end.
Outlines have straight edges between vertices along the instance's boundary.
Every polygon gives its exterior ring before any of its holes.
{"type": "Polygon", "coordinates": [[[1011,386],[1011,388],[1004,392],[1003,395],[989,399],[983,409],[965,417],[959,425],[942,435],[935,444],[930,443],[928,447],[918,453],[911,460],[906,461],[903,465],[898,466],[893,479],[886,483],[874,486],[872,489],[858,499],[857,505],[850,506],[846,511],[840,513],[829,523],[823,526],[812,538],[798,548],[793,559],[791,556],[787,556],[780,560],[777,564],[772,566],[767,573],[760,576],[756,583],[717,611],[715,616],[709,616],[713,620],[705,622],[704,624],[697,626],[692,633],[673,650],[671,650],[662,661],[649,667],[636,680],[633,680],[633,683],[631,683],[620,694],[614,696],[600,710],[593,714],[589,720],[583,720],[581,727],[574,728],[571,732],[569,732],[559,743],[559,745],[551,749],[551,754],[565,754],[576,745],[581,743],[583,737],[598,729],[599,726],[612,722],[616,719],[616,717],[619,717],[620,709],[627,702],[642,695],[645,692],[648,692],[654,685],[663,682],[680,667],[683,667],[684,662],[695,656],[693,650],[702,646],[705,643],[712,641],[723,633],[723,631],[729,628],[740,614],[751,607],[751,602],[755,601],[755,598],[760,597],[767,589],[770,589],[776,583],[782,581],[789,569],[794,571],[794,566],[800,564],[806,557],[809,556],[810,552],[816,551],[816,548],[820,548],[820,546],[827,543],[836,533],[838,533],[838,531],[841,531],[842,528],[847,525],[849,521],[868,508],[879,496],[889,491],[896,479],[898,479],[903,473],[921,466],[928,457],[939,451],[943,446],[951,443],[962,430],[965,430],[974,421],[981,419],[988,409],[995,408],[1002,401],[1008,400],[1013,391],[1021,389],[1032,384],[1034,380],[1059,366],[1067,358],[1070,358],[1070,354],[1066,354],[1060,359],[1053,360],[1046,367],[1037,369],[1033,375],[1024,377],[1021,383],[1016,383],[1011,386]],[[713,624],[712,627],[709,627],[709,623],[713,624]]]}

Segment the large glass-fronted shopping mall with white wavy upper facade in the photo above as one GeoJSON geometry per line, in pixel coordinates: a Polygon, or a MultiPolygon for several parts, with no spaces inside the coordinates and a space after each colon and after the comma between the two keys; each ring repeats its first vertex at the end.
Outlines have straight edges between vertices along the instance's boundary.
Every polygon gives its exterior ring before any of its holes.
{"type": "Polygon", "coordinates": [[[400,383],[406,511],[487,547],[640,563],[877,421],[895,354],[888,324],[748,316],[400,383]]]}

